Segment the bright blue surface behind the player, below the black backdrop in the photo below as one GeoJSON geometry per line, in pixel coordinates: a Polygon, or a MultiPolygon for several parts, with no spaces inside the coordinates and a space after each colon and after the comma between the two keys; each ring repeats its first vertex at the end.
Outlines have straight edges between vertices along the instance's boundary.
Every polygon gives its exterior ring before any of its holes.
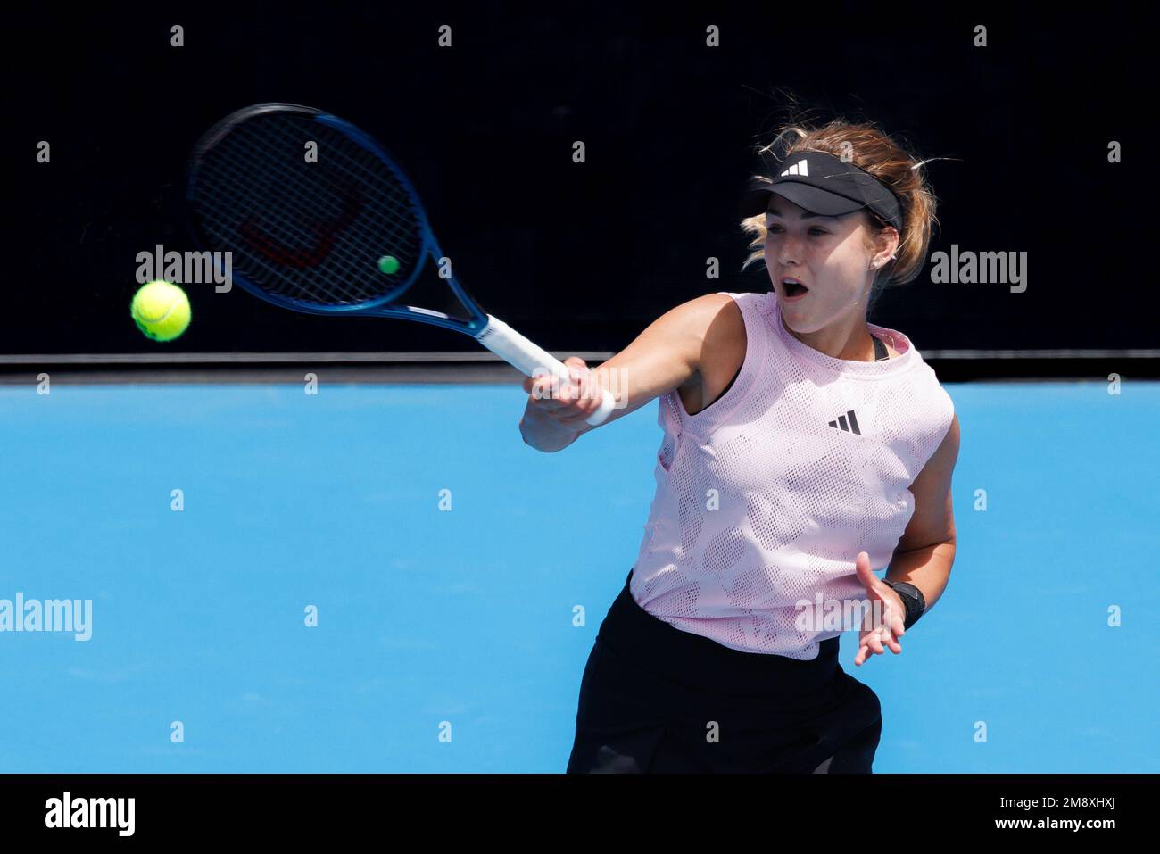
{"type": "MultiPolygon", "coordinates": [[[[1160,770],[1160,384],[947,390],[950,586],[901,656],[841,642],[875,770],[1160,770]]],[[[92,600],[87,640],[0,634],[0,770],[563,772],[660,430],[654,401],[545,455],[524,398],[0,388],[0,600],[92,600]]]]}

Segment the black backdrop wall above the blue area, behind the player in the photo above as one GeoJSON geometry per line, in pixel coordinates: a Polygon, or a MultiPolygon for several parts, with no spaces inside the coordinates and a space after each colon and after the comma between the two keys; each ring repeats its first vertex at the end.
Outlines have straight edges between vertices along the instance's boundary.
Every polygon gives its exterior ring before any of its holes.
{"type": "MultiPolygon", "coordinates": [[[[1133,91],[1151,30],[1112,16],[864,3],[539,8],[202,5],[9,19],[0,354],[477,350],[430,326],[300,316],[188,285],[169,345],[129,317],[136,254],[194,248],[186,158],[259,101],[325,108],[399,158],[464,285],[548,349],[617,350],[669,307],[764,291],[735,205],[791,92],[925,158],[930,251],[1028,252],[1029,287],[887,291],[920,350],[1157,343],[1133,91]],[[186,46],[169,46],[169,27],[186,46]],[[437,46],[452,27],[454,46],[437,46]],[[722,29],[706,48],[705,27],[722,29]],[[989,46],[972,46],[973,28],[989,46]],[[52,144],[51,165],[35,160],[52,144]],[[571,160],[587,144],[586,164],[571,160]],[[1111,139],[1124,162],[1110,165],[1111,139]],[[705,259],[722,277],[705,278],[705,259]]],[[[1151,181],[1148,181],[1151,183],[1151,181]]]]}

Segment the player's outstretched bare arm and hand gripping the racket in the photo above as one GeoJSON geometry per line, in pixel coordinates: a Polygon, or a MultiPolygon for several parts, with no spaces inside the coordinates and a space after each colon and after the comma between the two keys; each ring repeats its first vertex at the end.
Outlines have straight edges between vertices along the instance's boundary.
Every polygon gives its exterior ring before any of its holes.
{"type": "MultiPolygon", "coordinates": [[[[592,369],[587,389],[573,383],[553,393],[550,375],[524,378],[528,405],[520,419],[523,441],[537,450],[551,453],[596,429],[585,424],[585,419],[600,405],[601,389],[608,389],[617,399],[617,408],[599,425],[603,427],[673,389],[696,382],[705,355],[720,343],[715,336],[730,326],[713,321],[731,303],[732,297],[725,294],[706,294],[670,309],[632,343],[592,369]],[[582,391],[587,395],[581,396],[582,391]]],[[[578,356],[570,356],[564,363],[578,376],[588,371],[578,356]]]]}

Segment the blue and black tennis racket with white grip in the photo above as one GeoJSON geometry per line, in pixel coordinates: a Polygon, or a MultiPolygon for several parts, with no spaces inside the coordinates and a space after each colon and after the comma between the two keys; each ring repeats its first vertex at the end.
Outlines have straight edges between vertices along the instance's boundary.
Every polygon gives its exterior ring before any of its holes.
{"type": "MultiPolygon", "coordinates": [[[[226,116],[194,149],[186,198],[197,243],[230,252],[233,281],[254,296],[311,314],[442,326],[471,335],[525,376],[538,368],[568,382],[563,362],[480,309],[454,274],[441,278],[465,318],[398,302],[427,260],[443,253],[399,165],[338,116],[289,103],[226,116]]],[[[587,422],[602,424],[614,407],[603,390],[587,422]]]]}

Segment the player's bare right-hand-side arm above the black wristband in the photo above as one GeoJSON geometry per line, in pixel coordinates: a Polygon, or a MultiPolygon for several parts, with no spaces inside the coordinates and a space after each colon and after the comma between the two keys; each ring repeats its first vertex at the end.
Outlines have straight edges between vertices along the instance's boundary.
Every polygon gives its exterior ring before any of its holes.
{"type": "Polygon", "coordinates": [[[955,511],[950,483],[958,459],[958,415],[938,449],[914,478],[914,515],[906,526],[886,569],[890,581],[913,584],[926,599],[927,609],[938,601],[955,563],[955,511]]]}

